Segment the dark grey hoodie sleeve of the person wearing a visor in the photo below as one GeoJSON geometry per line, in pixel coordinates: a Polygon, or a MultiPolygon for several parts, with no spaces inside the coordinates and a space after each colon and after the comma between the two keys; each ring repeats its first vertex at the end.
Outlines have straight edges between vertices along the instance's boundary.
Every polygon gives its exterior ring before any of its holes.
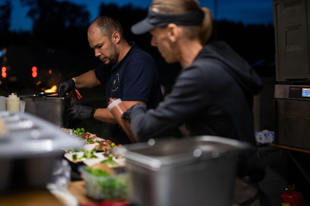
{"type": "Polygon", "coordinates": [[[211,102],[206,91],[199,69],[187,68],[177,78],[171,94],[155,110],[147,110],[145,105],[132,108],[130,120],[135,137],[139,141],[161,137],[193,118],[211,102]]]}

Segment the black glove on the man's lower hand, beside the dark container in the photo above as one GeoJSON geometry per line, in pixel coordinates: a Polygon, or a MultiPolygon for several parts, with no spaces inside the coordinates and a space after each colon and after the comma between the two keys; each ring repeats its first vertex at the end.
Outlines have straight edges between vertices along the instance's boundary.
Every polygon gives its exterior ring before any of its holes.
{"type": "Polygon", "coordinates": [[[94,118],[96,109],[85,105],[74,104],[68,109],[68,116],[73,120],[89,120],[94,118]]]}

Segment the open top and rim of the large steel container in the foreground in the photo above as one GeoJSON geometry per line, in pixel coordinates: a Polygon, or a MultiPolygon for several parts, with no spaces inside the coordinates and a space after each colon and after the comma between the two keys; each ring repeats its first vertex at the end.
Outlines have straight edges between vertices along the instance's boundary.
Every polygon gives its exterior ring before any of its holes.
{"type": "Polygon", "coordinates": [[[122,154],[127,162],[156,171],[165,166],[237,155],[251,147],[248,143],[224,137],[196,136],[182,140],[150,139],[148,142],[124,145],[114,152],[122,154]]]}

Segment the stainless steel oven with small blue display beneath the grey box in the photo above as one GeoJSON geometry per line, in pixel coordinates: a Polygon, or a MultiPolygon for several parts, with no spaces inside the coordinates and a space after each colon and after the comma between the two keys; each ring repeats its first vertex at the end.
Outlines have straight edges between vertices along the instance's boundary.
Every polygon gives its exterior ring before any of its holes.
{"type": "Polygon", "coordinates": [[[310,86],[276,85],[276,143],[310,149],[310,97],[302,96],[310,86]]]}

